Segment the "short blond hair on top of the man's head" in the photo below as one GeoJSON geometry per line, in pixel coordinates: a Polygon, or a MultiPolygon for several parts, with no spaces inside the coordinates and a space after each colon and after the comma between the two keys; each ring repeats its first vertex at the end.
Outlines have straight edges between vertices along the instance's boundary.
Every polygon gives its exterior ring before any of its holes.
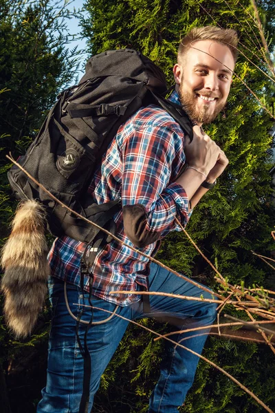
{"type": "Polygon", "coordinates": [[[192,43],[199,40],[212,40],[228,46],[232,53],[234,63],[236,63],[239,54],[236,47],[239,39],[235,30],[221,29],[213,25],[208,25],[204,28],[193,28],[181,39],[177,52],[178,63],[182,62],[184,55],[190,50],[192,43]]]}

